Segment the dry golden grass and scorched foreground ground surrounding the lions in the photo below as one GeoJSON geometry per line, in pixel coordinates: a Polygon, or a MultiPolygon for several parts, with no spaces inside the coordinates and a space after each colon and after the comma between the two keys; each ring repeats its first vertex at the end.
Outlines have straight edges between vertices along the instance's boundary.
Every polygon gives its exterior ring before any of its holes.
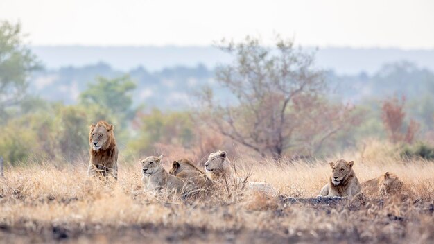
{"type": "MultiPolygon", "coordinates": [[[[169,159],[166,157],[168,166],[169,159]]],[[[119,180],[105,184],[75,165],[8,167],[0,180],[3,243],[433,243],[434,163],[371,153],[355,161],[363,182],[385,171],[405,184],[400,195],[366,200],[314,199],[330,173],[327,160],[280,164],[234,159],[240,174],[268,182],[279,196],[248,191],[205,199],[153,195],[141,188],[139,164],[119,162],[119,180]]],[[[333,160],[331,159],[331,160],[333,160]]]]}

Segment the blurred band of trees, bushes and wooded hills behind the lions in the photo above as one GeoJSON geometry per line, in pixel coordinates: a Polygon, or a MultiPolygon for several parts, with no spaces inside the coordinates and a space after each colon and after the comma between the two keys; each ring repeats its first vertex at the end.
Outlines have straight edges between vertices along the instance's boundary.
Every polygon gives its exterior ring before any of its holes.
{"type": "Polygon", "coordinates": [[[328,157],[343,150],[363,154],[367,145],[375,144],[372,141],[391,143],[400,157],[434,159],[432,71],[399,62],[385,64],[372,76],[338,76],[315,69],[315,57],[295,51],[292,42],[277,40],[276,49],[284,50],[281,55],[251,37],[223,48],[235,57],[226,67],[215,71],[179,67],[159,74],[166,78],[196,74],[203,82],[166,80],[166,87],[184,94],[168,95],[162,87],[147,89],[157,87],[157,81],[139,68],[125,73],[101,64],[103,69],[98,68],[96,75],[89,71],[92,67],[83,73],[64,69],[87,79],[78,92],[67,87],[66,93],[73,94],[76,102],[64,103],[33,92],[31,77],[44,68],[24,43],[21,26],[3,21],[0,155],[12,165],[28,160],[86,162],[89,125],[106,120],[114,125],[121,157],[127,162],[162,153],[162,148],[197,160],[212,150],[275,159],[328,157]],[[295,65],[287,69],[289,61],[295,65]],[[286,80],[281,76],[284,71],[293,76],[286,80]],[[311,79],[311,87],[303,86],[306,79],[311,79]],[[288,108],[279,110],[284,97],[300,84],[300,96],[290,98],[288,108]],[[205,85],[205,92],[200,92],[205,85]],[[366,92],[369,96],[361,96],[366,92]],[[143,98],[150,102],[144,103],[143,98]],[[182,109],[168,103],[187,98],[191,104],[182,109]],[[275,123],[280,116],[287,121],[275,123]]]}

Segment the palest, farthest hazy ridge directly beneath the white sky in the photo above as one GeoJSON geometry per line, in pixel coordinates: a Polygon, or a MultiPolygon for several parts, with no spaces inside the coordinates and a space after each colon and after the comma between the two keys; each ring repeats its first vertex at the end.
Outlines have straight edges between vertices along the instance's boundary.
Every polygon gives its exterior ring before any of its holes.
{"type": "MultiPolygon", "coordinates": [[[[98,62],[120,71],[137,67],[160,71],[167,67],[196,67],[198,64],[213,69],[216,64],[231,60],[227,53],[211,46],[33,46],[31,49],[47,69],[83,67],[98,62]]],[[[306,48],[306,51],[315,49],[306,48]]],[[[402,60],[434,71],[434,50],[321,48],[315,60],[318,67],[339,75],[373,74],[383,64],[402,60]]]]}

